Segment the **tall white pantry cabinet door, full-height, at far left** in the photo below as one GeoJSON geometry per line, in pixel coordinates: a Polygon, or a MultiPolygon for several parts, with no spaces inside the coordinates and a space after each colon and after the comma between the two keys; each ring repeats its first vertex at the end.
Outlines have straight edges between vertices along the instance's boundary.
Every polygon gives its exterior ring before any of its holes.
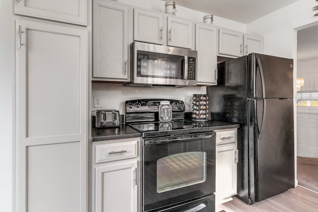
{"type": "Polygon", "coordinates": [[[16,31],[19,212],[85,212],[87,30],[16,20],[16,31]]]}

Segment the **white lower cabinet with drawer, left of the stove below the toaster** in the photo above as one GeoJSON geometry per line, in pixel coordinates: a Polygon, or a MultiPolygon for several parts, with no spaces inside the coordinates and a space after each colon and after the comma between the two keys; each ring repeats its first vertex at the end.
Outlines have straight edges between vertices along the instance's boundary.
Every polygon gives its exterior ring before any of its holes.
{"type": "Polygon", "coordinates": [[[140,138],[93,142],[92,212],[140,211],[139,144],[140,138]]]}

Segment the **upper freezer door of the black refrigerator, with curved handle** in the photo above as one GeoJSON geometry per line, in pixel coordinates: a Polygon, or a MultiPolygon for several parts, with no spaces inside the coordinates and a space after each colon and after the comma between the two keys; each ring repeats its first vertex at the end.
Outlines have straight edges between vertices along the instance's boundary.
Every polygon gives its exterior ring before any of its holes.
{"type": "Polygon", "coordinates": [[[293,98],[293,59],[249,54],[248,98],[293,98]]]}

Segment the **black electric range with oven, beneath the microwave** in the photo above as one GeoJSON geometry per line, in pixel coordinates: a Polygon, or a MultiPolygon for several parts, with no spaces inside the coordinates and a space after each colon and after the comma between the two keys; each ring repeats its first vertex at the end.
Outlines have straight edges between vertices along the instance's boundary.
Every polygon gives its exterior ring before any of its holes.
{"type": "Polygon", "coordinates": [[[126,123],[142,133],[142,212],[215,211],[215,126],[183,119],[177,100],[126,101],[126,123]],[[159,122],[161,101],[172,120],[159,122]]]}

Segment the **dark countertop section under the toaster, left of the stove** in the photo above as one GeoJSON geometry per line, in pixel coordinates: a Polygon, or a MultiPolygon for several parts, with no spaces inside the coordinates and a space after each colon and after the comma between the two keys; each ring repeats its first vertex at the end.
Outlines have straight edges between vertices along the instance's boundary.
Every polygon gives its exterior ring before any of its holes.
{"type": "Polygon", "coordinates": [[[141,133],[132,127],[121,124],[119,127],[91,128],[92,141],[141,137],[141,133]]]}

